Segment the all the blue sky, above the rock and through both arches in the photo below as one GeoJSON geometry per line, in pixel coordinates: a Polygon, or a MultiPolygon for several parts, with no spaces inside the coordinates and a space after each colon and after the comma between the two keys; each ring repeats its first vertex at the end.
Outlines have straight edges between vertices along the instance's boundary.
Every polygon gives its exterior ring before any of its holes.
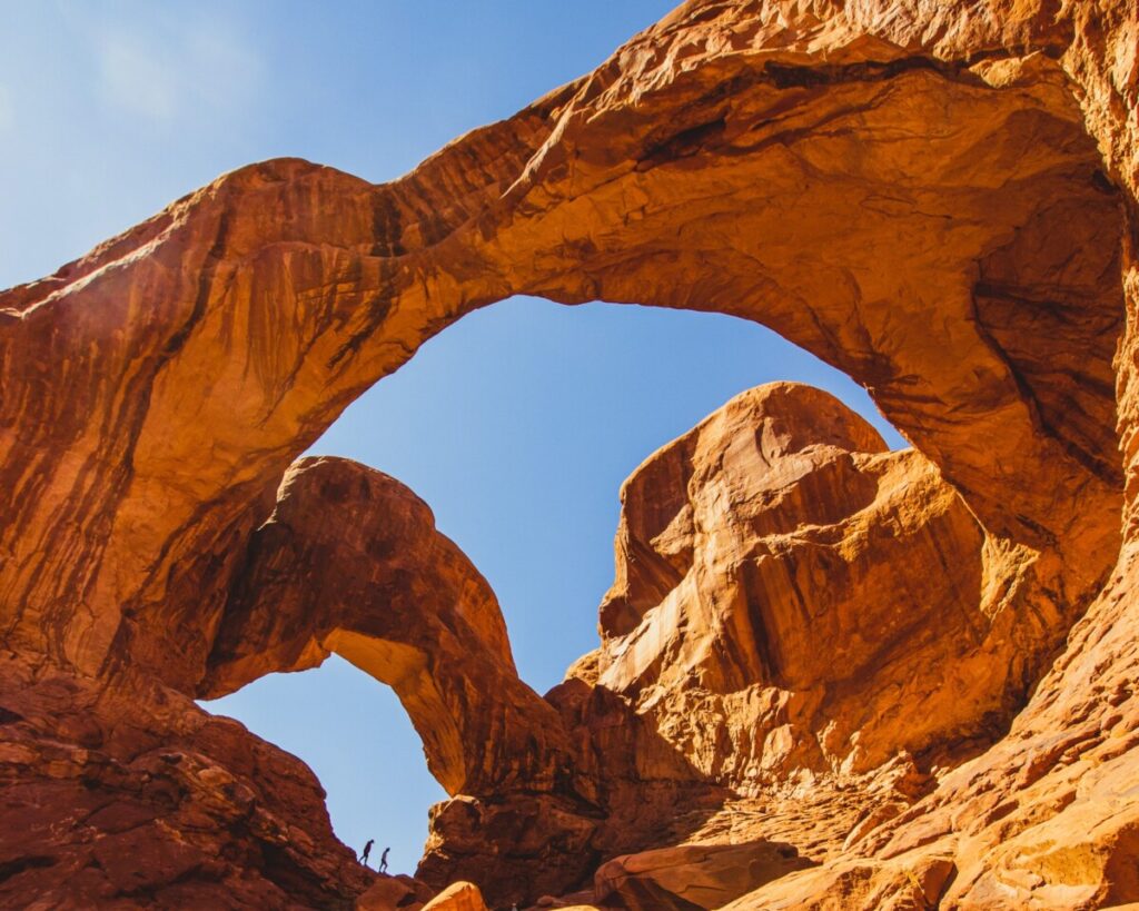
{"type": "MultiPolygon", "coordinates": [[[[222,171],[278,155],[387,180],[596,66],[667,0],[0,0],[0,287],[39,278],[222,171]]],[[[491,582],[539,691],[597,645],[621,482],[736,393],[866,393],[760,326],[514,298],[432,339],[313,448],[409,484],[491,582]]],[[[399,703],[339,659],[211,709],[305,760],[337,834],[412,871],[427,774],[399,703]]]]}

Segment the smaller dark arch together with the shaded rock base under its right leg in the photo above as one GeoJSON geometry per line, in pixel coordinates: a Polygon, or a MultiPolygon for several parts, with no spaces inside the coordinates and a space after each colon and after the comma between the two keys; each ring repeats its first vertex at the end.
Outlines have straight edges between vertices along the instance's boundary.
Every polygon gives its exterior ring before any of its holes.
{"type": "Polygon", "coordinates": [[[423,877],[514,901],[590,872],[597,783],[557,711],[518,679],[485,580],[394,478],[303,459],[249,541],[200,693],[333,651],[395,690],[454,797],[432,811],[423,877]]]}

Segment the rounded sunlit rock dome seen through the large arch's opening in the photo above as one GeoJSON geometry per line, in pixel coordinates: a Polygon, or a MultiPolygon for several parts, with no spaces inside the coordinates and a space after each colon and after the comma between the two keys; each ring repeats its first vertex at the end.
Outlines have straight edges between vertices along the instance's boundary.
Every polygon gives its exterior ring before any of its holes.
{"type": "Polygon", "coordinates": [[[1042,671],[1032,555],[826,393],[744,393],[625,483],[596,683],[708,779],[859,773],[999,729],[1042,671]]]}

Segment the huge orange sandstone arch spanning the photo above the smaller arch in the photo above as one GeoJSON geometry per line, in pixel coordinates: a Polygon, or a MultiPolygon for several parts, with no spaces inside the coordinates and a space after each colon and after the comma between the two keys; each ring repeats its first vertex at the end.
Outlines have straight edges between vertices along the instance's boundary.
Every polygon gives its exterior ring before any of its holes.
{"type": "MultiPolygon", "coordinates": [[[[288,462],[426,338],[517,293],[771,326],[871,388],[986,528],[1058,555],[1070,567],[1054,580],[1059,614],[1077,614],[1118,543],[1114,519],[1088,517],[1121,506],[1108,454],[1121,195],[1047,57],[907,63],[874,42],[844,55],[700,58],[636,98],[629,84],[598,95],[583,80],[390,184],[297,161],[254,165],[50,281],[8,293],[6,319],[26,330],[13,376],[35,378],[51,362],[41,347],[64,311],[80,336],[121,331],[153,367],[140,378],[146,395],[118,416],[137,433],[87,452],[85,425],[52,430],[57,449],[131,470],[91,501],[117,518],[99,526],[101,557],[82,580],[74,571],[60,581],[49,555],[21,543],[42,526],[60,552],[88,547],[82,524],[60,519],[66,484],[6,530],[22,567],[15,639],[40,650],[51,639],[62,660],[93,673],[129,639],[140,667],[196,687],[222,609],[216,583],[288,462]],[[552,123],[557,141],[547,142],[552,123]],[[267,222],[259,212],[290,215],[267,222]],[[172,273],[142,276],[153,260],[134,254],[148,245],[189,257],[202,273],[197,304],[172,273]],[[120,260],[123,269],[103,269],[120,260]],[[134,337],[136,279],[155,325],[185,331],[134,337]],[[1050,336],[1056,326],[1065,331],[1050,336]],[[1027,337],[1059,347],[1035,358],[1018,347],[1027,337]],[[203,375],[194,364],[216,363],[219,345],[233,356],[203,375]],[[200,386],[192,402],[182,370],[200,386]],[[162,523],[147,503],[163,503],[162,523]],[[58,584],[110,608],[95,610],[93,625],[80,614],[62,621],[58,584]]],[[[98,393],[84,378],[132,362],[89,347],[52,388],[73,413],[95,416],[98,393]]],[[[38,461],[41,442],[14,458],[51,475],[59,469],[38,461]]]]}

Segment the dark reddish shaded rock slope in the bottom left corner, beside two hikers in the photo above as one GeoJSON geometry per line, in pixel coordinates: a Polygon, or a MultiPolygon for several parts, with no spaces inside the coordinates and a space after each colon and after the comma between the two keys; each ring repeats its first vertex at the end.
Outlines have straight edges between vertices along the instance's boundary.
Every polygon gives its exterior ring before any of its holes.
{"type": "Polygon", "coordinates": [[[0,905],[353,906],[300,760],[153,680],[0,660],[0,905]]]}

